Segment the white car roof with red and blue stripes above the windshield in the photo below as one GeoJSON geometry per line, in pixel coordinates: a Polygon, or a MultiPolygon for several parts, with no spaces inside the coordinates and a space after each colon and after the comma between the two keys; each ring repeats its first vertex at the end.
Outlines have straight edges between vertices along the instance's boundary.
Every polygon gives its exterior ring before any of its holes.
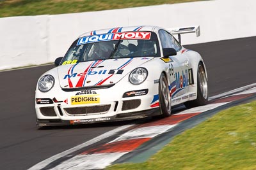
{"type": "Polygon", "coordinates": [[[85,32],[79,38],[84,37],[84,36],[92,36],[96,34],[109,34],[109,33],[114,33],[114,32],[137,32],[137,31],[153,31],[156,32],[159,29],[163,29],[161,27],[157,26],[149,26],[149,25],[141,25],[141,26],[129,26],[129,27],[113,27],[109,29],[100,29],[100,30],[95,30],[95,31],[90,31],[90,32],[85,32]]]}

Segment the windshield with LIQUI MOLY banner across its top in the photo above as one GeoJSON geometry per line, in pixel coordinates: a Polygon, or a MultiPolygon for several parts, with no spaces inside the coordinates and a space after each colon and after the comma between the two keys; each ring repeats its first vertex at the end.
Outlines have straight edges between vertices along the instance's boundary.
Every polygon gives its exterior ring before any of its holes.
{"type": "Polygon", "coordinates": [[[61,64],[128,57],[159,57],[154,32],[118,32],[85,36],[70,46],[61,64]]]}

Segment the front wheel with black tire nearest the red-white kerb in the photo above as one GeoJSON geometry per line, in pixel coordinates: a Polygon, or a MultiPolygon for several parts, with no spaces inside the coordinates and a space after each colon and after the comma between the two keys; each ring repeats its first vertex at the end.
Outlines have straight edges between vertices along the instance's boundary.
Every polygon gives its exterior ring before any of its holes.
{"type": "Polygon", "coordinates": [[[161,117],[170,117],[171,115],[171,96],[168,82],[164,73],[159,78],[159,106],[161,117]]]}

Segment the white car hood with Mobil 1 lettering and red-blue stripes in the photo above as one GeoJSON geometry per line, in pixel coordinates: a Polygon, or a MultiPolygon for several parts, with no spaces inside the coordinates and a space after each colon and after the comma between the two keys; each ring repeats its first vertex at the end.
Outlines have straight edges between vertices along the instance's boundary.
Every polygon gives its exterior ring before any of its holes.
{"type": "Polygon", "coordinates": [[[72,65],[62,65],[58,67],[60,87],[70,89],[112,85],[120,81],[136,67],[153,58],[93,60],[72,65]]]}

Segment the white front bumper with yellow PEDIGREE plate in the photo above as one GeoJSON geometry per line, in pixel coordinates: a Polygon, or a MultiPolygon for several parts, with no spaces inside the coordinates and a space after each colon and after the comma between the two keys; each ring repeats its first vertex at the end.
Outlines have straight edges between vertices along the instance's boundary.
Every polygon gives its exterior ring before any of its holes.
{"type": "MultiPolygon", "coordinates": [[[[120,83],[120,82],[119,82],[120,83]]],[[[150,106],[158,94],[158,83],[141,85],[129,82],[107,89],[50,92],[36,90],[36,124],[38,126],[92,124],[131,120],[159,115],[159,106],[150,106]]]]}

